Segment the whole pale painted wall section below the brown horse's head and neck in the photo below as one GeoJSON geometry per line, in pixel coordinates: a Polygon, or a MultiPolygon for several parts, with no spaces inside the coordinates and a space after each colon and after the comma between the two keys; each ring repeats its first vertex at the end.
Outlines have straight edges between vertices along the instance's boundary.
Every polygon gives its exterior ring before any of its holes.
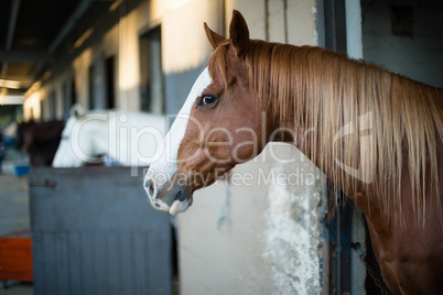
{"type": "Polygon", "coordinates": [[[225,181],[197,192],[179,216],[181,294],[320,293],[320,176],[274,144],[234,170],[226,215],[225,181]]]}

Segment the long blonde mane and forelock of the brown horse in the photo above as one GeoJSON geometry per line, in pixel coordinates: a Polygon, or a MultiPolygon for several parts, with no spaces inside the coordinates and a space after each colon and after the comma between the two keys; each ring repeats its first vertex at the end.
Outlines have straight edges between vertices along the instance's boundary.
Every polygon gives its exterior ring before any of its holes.
{"type": "MultiPolygon", "coordinates": [[[[227,48],[226,41],[208,61],[210,75],[222,75],[225,87],[227,48]]],[[[431,189],[440,196],[442,88],[320,47],[250,40],[245,58],[250,89],[261,108],[270,110],[282,124],[293,121],[295,127],[313,130],[307,142],[299,139],[299,143],[310,146],[306,156],[326,175],[339,179],[344,192],[381,192],[376,195],[382,208],[393,206],[401,217],[407,162],[415,220],[424,225],[430,193],[426,177],[432,177],[431,189]],[[338,140],[345,125],[353,132],[345,132],[338,140]],[[360,140],[367,135],[371,139],[369,146],[360,140]],[[361,177],[346,173],[337,160],[348,167],[364,166],[361,177]],[[361,181],[368,177],[370,182],[361,181]]],[[[437,197],[439,212],[440,201],[437,197]]]]}

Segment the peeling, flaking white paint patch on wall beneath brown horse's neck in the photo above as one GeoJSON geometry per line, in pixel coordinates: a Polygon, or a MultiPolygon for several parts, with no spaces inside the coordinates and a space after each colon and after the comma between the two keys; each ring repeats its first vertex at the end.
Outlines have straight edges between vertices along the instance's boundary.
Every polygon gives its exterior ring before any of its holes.
{"type": "Polygon", "coordinates": [[[301,168],[305,174],[304,179],[312,174],[315,182],[305,181],[298,186],[269,186],[263,258],[272,267],[273,294],[318,294],[322,174],[307,160],[290,165],[275,164],[274,168],[277,174],[289,174],[301,168]]]}

